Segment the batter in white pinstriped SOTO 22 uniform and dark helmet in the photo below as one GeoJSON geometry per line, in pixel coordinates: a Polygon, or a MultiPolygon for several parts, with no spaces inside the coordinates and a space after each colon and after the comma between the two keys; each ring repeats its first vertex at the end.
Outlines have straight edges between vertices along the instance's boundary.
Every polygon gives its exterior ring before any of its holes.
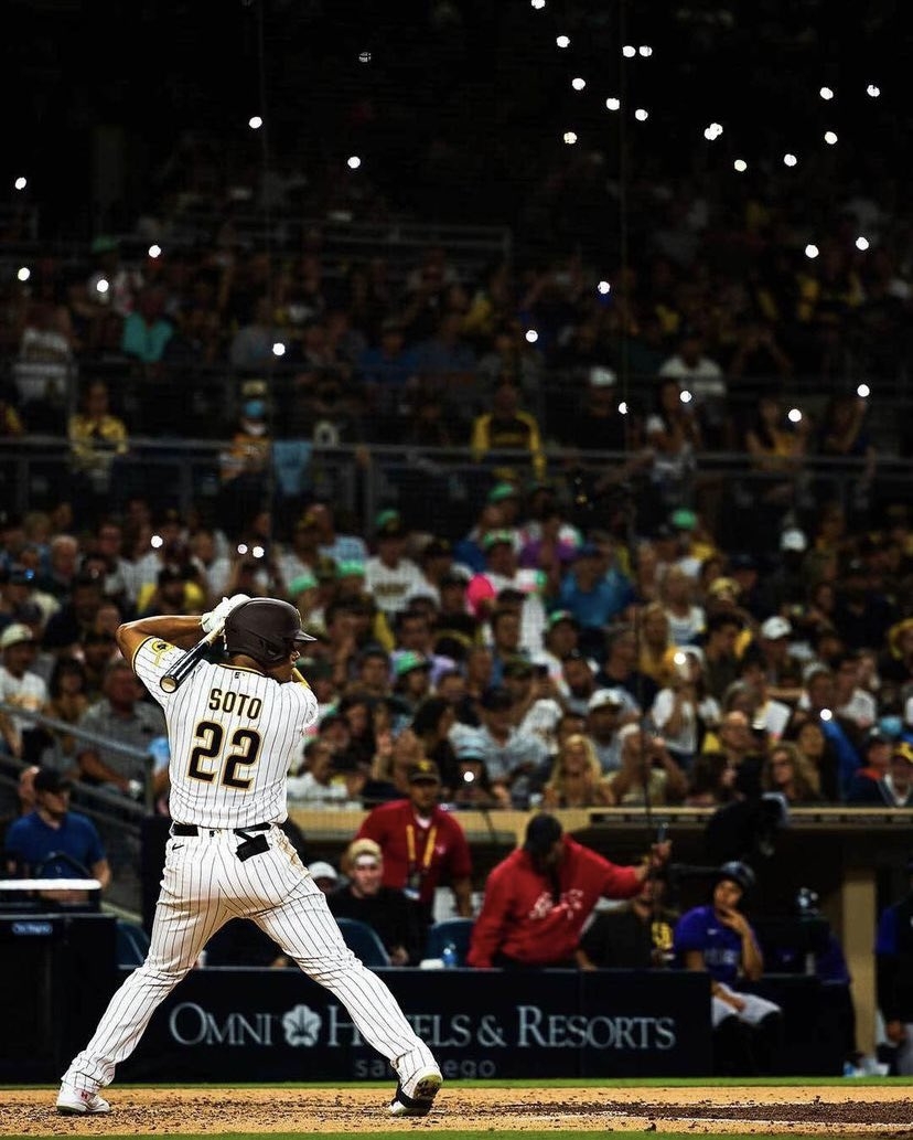
{"type": "Polygon", "coordinates": [[[286,775],[314,694],[293,679],[302,633],[288,602],[236,594],[201,618],[161,616],[122,625],[117,644],[162,705],[171,744],[171,838],[149,954],[112,997],[92,1040],[66,1070],[57,1109],[107,1113],[99,1089],[137,1045],[155,1009],[231,918],[250,918],[348,1010],[393,1066],[394,1116],[425,1116],[441,1069],[381,979],[343,942],[326,897],[281,828],[286,775]],[[228,661],[200,661],[173,692],[178,646],[224,632],[228,661]]]}

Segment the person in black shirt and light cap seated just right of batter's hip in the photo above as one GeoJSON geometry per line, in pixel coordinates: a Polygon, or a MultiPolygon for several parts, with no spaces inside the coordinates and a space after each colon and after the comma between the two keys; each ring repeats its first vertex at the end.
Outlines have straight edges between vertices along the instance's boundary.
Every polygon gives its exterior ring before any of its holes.
{"type": "Polygon", "coordinates": [[[422,934],[412,902],[394,887],[384,887],[384,856],[373,839],[356,839],[346,848],[343,870],[348,882],[327,896],[337,918],[357,919],[373,927],[392,966],[416,966],[422,934]]]}

